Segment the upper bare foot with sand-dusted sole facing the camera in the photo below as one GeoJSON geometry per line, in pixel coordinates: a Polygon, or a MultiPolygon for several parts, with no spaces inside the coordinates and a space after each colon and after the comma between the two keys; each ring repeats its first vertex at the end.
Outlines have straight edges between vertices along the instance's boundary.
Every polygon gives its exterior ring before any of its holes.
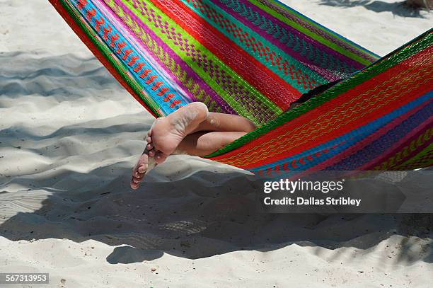
{"type": "Polygon", "coordinates": [[[148,149],[154,149],[156,163],[163,163],[175,151],[179,143],[208,115],[206,105],[194,102],[159,118],[149,134],[148,149]]]}

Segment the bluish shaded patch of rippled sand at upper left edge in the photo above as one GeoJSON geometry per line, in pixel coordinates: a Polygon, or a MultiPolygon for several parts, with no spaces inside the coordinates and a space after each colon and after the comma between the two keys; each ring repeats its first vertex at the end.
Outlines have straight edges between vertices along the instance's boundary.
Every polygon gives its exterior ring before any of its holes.
{"type": "Polygon", "coordinates": [[[0,71],[0,95],[10,98],[35,95],[76,100],[88,97],[91,89],[120,87],[98,59],[73,54],[40,58],[33,53],[4,52],[0,53],[0,71]]]}

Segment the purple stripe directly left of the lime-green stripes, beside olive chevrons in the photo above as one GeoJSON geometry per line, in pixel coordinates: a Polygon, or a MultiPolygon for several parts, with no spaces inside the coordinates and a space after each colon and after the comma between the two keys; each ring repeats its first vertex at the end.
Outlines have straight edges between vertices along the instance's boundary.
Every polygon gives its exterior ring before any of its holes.
{"type": "MultiPolygon", "coordinates": [[[[106,0],[104,0],[106,1],[106,0]]],[[[237,114],[235,110],[233,110],[233,108],[231,108],[231,106],[229,104],[226,103],[226,101],[224,101],[223,98],[221,98],[220,96],[218,96],[218,94],[212,90],[212,88],[210,88],[204,81],[203,79],[200,78],[200,76],[198,76],[195,71],[193,71],[191,69],[191,67],[189,67],[182,58],[179,57],[178,54],[176,54],[173,50],[171,50],[170,47],[168,47],[168,45],[166,45],[161,38],[159,38],[152,30],[150,30],[146,25],[144,25],[144,23],[142,23],[142,21],[140,21],[140,19],[135,16],[134,13],[132,13],[132,11],[129,10],[129,8],[127,8],[127,6],[125,6],[125,4],[122,3],[122,1],[120,0],[115,0],[115,3],[122,7],[122,9],[128,14],[129,17],[131,17],[135,23],[137,23],[147,34],[150,35],[151,39],[154,40],[158,46],[162,47],[164,52],[167,52],[168,55],[170,55],[170,57],[172,59],[175,60],[176,64],[178,64],[181,69],[183,69],[186,73],[187,76],[189,76],[191,79],[193,79],[195,81],[195,83],[197,83],[200,88],[205,91],[215,102],[217,102],[217,104],[219,105],[219,107],[221,107],[221,109],[223,110],[223,113],[227,113],[227,114],[237,114]]],[[[108,7],[110,8],[110,7],[108,7]]],[[[123,21],[120,21],[123,23],[123,21]]],[[[129,29],[129,28],[127,28],[129,29]]],[[[142,40],[138,40],[139,43],[142,43],[142,40]]],[[[144,45],[145,47],[146,45],[144,45]]],[[[149,51],[149,50],[148,50],[149,51]]],[[[151,55],[154,55],[153,52],[149,51],[149,53],[151,55]]],[[[159,62],[158,57],[153,57],[156,61],[159,62]]],[[[161,62],[159,62],[161,63],[161,62]]],[[[163,67],[165,67],[165,65],[162,65],[163,67]]],[[[169,71],[169,70],[168,70],[169,71]]],[[[184,87],[185,90],[188,90],[187,87],[185,87],[185,85],[183,85],[183,83],[181,83],[180,81],[177,80],[177,77],[174,76],[171,71],[169,71],[169,73],[171,74],[171,79],[175,80],[176,82],[179,83],[179,85],[181,87],[184,87]]],[[[192,98],[195,98],[194,96],[192,96],[192,98]]]]}

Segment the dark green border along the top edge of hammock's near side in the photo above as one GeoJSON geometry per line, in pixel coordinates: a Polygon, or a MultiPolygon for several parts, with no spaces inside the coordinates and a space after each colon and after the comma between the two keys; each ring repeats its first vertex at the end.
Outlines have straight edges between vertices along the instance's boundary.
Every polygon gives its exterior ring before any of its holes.
{"type": "MultiPolygon", "coordinates": [[[[371,79],[378,74],[383,73],[384,71],[390,69],[396,64],[399,64],[403,60],[408,59],[408,57],[432,45],[432,31],[433,30],[431,29],[426,33],[420,35],[420,37],[416,38],[415,40],[410,41],[402,48],[393,52],[393,54],[391,54],[387,59],[382,59],[381,61],[372,64],[366,69],[359,71],[357,74],[354,74],[350,79],[337,83],[335,86],[329,88],[327,91],[311,98],[311,100],[308,100],[306,103],[303,103],[302,105],[299,105],[298,107],[289,110],[286,113],[283,113],[275,120],[270,121],[267,125],[262,126],[239,139],[236,139],[234,142],[231,142],[231,144],[225,146],[224,148],[219,149],[214,153],[204,157],[209,158],[220,156],[244,144],[247,144],[253,139],[257,139],[263,134],[270,132],[271,130],[283,125],[284,123],[293,120],[294,118],[299,117],[300,115],[303,115],[304,113],[307,113],[314,108],[317,108],[318,106],[341,95],[342,93],[349,91],[350,89],[358,86],[360,83],[367,81],[368,79],[371,79]]],[[[320,123],[318,123],[318,125],[320,125],[320,123]]]]}

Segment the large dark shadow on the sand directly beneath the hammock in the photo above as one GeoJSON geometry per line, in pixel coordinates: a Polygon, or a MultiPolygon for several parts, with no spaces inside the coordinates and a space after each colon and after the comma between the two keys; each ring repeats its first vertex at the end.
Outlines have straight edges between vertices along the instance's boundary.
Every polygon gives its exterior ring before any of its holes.
{"type": "MultiPolygon", "coordinates": [[[[319,256],[323,248],[330,249],[333,254],[326,258],[333,261],[344,257],[338,248],[367,250],[390,235],[423,236],[420,231],[433,226],[431,215],[422,219],[416,215],[260,214],[255,210],[256,184],[238,172],[199,171],[173,182],[158,180],[152,172],[142,188],[132,192],[127,164],[114,163],[89,173],[62,171],[51,183],[40,178],[13,179],[16,185],[41,181],[50,188],[38,188],[46,192],[42,206],[8,217],[0,225],[0,235],[13,241],[93,239],[120,246],[106,258],[112,264],[153,260],[163,253],[197,259],[291,244],[309,246],[319,256]]],[[[0,199],[32,197],[33,191],[4,191],[0,199]]],[[[433,249],[415,255],[416,241],[408,238],[403,244],[396,261],[433,262],[433,249]]]]}

